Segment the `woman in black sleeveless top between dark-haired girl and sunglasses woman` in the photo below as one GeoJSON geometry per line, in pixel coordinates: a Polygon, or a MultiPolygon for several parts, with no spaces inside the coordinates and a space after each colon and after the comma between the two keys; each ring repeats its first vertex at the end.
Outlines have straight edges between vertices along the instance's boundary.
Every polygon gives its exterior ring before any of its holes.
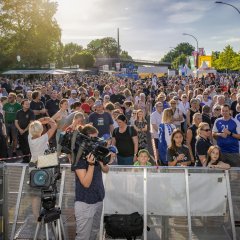
{"type": "Polygon", "coordinates": [[[202,114],[195,113],[193,115],[193,124],[187,130],[186,135],[186,144],[189,148],[191,161],[195,164],[195,145],[196,145],[196,137],[197,137],[197,129],[199,124],[202,122],[202,114]]]}

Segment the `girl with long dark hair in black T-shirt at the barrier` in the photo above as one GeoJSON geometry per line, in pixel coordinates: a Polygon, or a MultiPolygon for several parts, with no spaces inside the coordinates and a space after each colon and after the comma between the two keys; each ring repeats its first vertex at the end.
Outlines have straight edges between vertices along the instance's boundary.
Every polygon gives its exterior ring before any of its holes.
{"type": "Polygon", "coordinates": [[[167,151],[168,166],[188,166],[191,156],[187,146],[183,144],[183,132],[175,129],[171,136],[171,145],[167,151]]]}

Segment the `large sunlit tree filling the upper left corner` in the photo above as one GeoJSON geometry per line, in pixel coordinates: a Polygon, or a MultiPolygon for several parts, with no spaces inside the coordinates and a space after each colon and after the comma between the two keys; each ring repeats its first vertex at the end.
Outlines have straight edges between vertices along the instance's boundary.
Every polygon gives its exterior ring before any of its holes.
{"type": "Polygon", "coordinates": [[[61,30],[54,18],[57,3],[46,0],[2,0],[0,5],[0,52],[8,65],[41,67],[54,62],[61,45],[61,30]]]}

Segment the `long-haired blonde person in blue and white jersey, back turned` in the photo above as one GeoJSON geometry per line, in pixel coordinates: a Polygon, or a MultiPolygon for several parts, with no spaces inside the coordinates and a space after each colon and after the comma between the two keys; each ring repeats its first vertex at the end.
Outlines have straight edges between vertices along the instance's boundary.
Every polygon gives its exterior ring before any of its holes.
{"type": "Polygon", "coordinates": [[[171,135],[175,129],[173,124],[173,111],[171,108],[164,109],[162,123],[159,125],[158,153],[161,165],[167,166],[167,148],[171,143],[171,135]]]}

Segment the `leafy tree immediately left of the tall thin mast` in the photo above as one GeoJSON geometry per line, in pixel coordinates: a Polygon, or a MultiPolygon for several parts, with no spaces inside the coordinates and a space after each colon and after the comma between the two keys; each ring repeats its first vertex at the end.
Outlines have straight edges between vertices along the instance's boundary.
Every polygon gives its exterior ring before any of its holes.
{"type": "Polygon", "coordinates": [[[91,52],[94,57],[117,57],[118,56],[117,41],[111,37],[92,40],[87,45],[87,50],[91,52]]]}

